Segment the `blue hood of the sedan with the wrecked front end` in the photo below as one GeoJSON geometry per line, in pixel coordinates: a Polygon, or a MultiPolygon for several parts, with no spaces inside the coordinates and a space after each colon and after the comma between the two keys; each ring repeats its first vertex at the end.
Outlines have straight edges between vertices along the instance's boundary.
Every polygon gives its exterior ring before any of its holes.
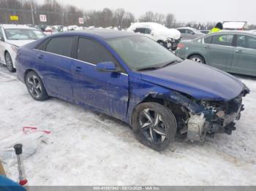
{"type": "Polygon", "coordinates": [[[236,98],[244,84],[219,69],[185,60],[162,69],[143,71],[141,78],[197,99],[228,101],[236,98]]]}

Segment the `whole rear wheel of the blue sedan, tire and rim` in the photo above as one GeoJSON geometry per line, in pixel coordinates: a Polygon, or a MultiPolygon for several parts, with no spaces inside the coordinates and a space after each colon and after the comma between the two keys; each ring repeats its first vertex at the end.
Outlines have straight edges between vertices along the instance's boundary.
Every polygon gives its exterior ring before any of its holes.
{"type": "Polygon", "coordinates": [[[42,80],[35,71],[29,71],[29,73],[26,74],[25,83],[29,94],[34,100],[45,101],[49,98],[42,80]]]}

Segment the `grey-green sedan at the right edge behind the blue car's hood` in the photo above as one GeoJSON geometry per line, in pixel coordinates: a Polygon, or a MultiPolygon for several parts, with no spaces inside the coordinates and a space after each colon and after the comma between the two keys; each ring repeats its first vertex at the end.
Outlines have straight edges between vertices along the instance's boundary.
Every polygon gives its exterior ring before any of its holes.
{"type": "Polygon", "coordinates": [[[256,77],[256,34],[222,31],[178,44],[176,55],[236,74],[256,77]]]}

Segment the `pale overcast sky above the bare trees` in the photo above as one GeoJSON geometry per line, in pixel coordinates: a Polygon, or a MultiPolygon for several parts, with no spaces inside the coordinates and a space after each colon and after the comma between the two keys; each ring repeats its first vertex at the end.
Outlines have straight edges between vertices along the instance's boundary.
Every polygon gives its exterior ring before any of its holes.
{"type": "Polygon", "coordinates": [[[83,9],[124,8],[140,17],[151,10],[173,13],[178,22],[246,20],[256,24],[256,0],[58,0],[83,9]]]}

